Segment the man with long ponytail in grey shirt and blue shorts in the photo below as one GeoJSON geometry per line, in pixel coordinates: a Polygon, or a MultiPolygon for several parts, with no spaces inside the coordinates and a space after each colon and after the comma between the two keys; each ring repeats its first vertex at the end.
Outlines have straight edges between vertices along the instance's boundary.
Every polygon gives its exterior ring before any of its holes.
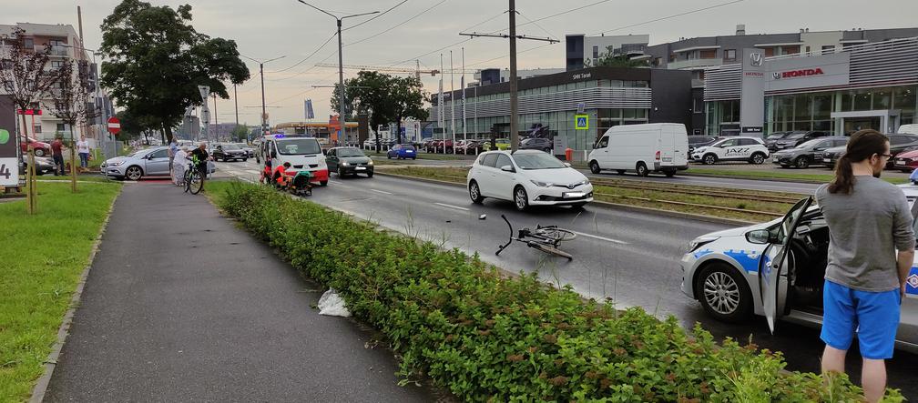
{"type": "Polygon", "coordinates": [[[879,179],[889,159],[886,136],[859,130],[848,140],[833,182],[815,194],[829,226],[820,336],[825,342],[823,374],[845,372],[845,353],[857,333],[868,402],[879,401],[886,389],[885,360],[892,358],[915,248],[905,195],[879,179]]]}

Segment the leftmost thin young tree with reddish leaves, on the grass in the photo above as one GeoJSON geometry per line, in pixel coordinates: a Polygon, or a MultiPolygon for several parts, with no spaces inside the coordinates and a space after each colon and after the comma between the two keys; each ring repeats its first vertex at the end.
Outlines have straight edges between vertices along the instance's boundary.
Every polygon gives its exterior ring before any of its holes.
{"type": "MultiPolygon", "coordinates": [[[[51,86],[61,80],[60,68],[49,68],[51,47],[46,44],[42,50],[26,46],[26,31],[13,30],[11,35],[0,36],[0,85],[12,99],[17,109],[32,109],[33,105],[50,91],[51,86]]],[[[35,151],[27,139],[26,116],[22,115],[20,135],[28,144],[28,169],[26,170],[26,199],[28,214],[35,214],[35,151]]],[[[18,150],[18,149],[17,149],[18,150]]]]}

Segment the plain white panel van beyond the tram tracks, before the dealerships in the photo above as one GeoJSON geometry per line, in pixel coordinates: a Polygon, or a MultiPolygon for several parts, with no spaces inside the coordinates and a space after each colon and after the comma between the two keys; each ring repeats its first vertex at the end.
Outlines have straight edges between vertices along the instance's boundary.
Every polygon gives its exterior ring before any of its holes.
{"type": "Polygon", "coordinates": [[[606,130],[587,159],[589,170],[675,175],[689,169],[689,135],[681,123],[616,126],[606,130]]]}

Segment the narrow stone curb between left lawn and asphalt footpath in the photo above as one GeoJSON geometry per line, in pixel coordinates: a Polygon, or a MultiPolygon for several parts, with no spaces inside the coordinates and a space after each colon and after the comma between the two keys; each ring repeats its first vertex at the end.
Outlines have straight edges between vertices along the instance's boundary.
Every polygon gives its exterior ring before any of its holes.
{"type": "MultiPolygon", "coordinates": [[[[120,192],[118,196],[120,196],[120,192]]],[[[45,398],[45,392],[48,391],[48,386],[51,382],[51,375],[54,375],[54,368],[57,366],[58,359],[61,358],[64,341],[67,341],[67,335],[70,331],[70,325],[73,323],[73,316],[76,313],[76,308],[80,304],[80,298],[83,297],[83,288],[86,285],[86,278],[89,277],[89,270],[93,267],[93,263],[95,262],[95,254],[99,252],[99,244],[102,243],[102,235],[106,233],[108,219],[111,218],[112,211],[115,209],[115,203],[118,201],[118,196],[115,196],[115,198],[112,199],[112,204],[108,206],[106,220],[102,222],[99,234],[95,237],[93,249],[89,252],[89,262],[86,263],[83,273],[80,274],[80,282],[77,283],[76,289],[73,290],[70,308],[67,308],[67,312],[63,315],[61,327],[58,328],[57,341],[54,341],[54,345],[51,346],[51,352],[45,360],[44,374],[39,377],[39,381],[35,384],[35,387],[32,388],[32,396],[28,398],[29,403],[40,403],[45,398]]]]}

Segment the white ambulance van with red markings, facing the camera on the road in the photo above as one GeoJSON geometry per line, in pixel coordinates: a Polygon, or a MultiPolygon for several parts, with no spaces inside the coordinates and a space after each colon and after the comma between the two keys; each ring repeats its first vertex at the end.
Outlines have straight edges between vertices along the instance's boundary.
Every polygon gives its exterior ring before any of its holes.
{"type": "Polygon", "coordinates": [[[271,134],[264,136],[258,151],[260,161],[271,161],[271,168],[277,169],[284,162],[290,162],[287,172],[308,171],[312,182],[329,184],[329,167],[319,140],[297,134],[271,134]]]}

